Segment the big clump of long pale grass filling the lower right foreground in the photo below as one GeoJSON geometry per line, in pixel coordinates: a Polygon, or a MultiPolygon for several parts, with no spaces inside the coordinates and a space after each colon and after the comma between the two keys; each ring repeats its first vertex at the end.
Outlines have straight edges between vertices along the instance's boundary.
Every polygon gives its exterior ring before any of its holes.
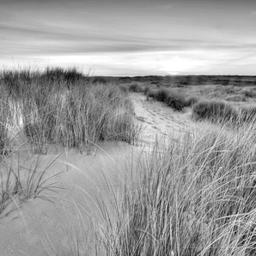
{"type": "Polygon", "coordinates": [[[157,139],[113,197],[113,218],[101,207],[107,255],[256,253],[255,129],[228,130],[157,139]]]}

